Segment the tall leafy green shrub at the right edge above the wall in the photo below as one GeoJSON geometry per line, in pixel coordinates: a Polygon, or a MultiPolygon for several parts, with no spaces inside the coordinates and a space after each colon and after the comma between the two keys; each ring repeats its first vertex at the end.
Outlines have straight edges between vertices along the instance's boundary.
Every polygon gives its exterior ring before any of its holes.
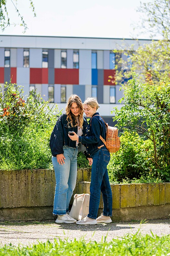
{"type": "Polygon", "coordinates": [[[119,129],[136,131],[151,141],[155,175],[170,181],[170,83],[141,83],[136,75],[123,85],[124,105],[114,108],[119,129]]]}

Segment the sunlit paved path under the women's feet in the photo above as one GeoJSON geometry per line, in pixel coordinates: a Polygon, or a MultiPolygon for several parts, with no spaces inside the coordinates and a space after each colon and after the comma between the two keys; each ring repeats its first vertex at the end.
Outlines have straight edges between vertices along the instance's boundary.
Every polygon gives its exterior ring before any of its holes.
{"type": "Polygon", "coordinates": [[[157,236],[170,234],[170,220],[149,220],[148,223],[139,222],[117,222],[96,225],[77,224],[56,224],[54,221],[44,222],[0,222],[0,245],[12,243],[13,245],[30,245],[38,241],[53,241],[59,237],[70,240],[84,237],[86,241],[96,240],[100,242],[102,236],[107,236],[106,240],[122,237],[127,233],[135,234],[140,228],[141,234],[157,236]]]}

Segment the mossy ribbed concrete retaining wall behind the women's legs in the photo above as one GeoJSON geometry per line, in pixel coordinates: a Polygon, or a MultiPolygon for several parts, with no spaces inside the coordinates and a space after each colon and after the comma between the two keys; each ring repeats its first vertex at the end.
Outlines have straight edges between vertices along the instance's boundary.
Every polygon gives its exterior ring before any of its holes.
{"type": "MultiPolygon", "coordinates": [[[[0,221],[52,218],[55,174],[50,170],[0,171],[0,221]]],[[[90,171],[79,169],[74,193],[89,193],[90,171]]],[[[118,220],[168,218],[170,183],[112,184],[113,217],[118,220]]],[[[102,212],[101,197],[99,214],[102,212]]]]}

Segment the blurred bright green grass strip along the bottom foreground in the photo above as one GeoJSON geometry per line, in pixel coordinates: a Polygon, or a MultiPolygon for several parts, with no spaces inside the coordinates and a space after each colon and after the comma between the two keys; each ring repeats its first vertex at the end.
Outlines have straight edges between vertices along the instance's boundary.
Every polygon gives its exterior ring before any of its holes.
{"type": "Polygon", "coordinates": [[[170,255],[170,235],[163,237],[153,234],[142,236],[136,233],[129,234],[121,239],[106,241],[106,237],[97,243],[96,241],[85,242],[70,241],[69,239],[53,242],[33,244],[32,246],[12,246],[0,247],[0,255],[46,255],[46,256],[129,256],[129,255],[170,255]]]}

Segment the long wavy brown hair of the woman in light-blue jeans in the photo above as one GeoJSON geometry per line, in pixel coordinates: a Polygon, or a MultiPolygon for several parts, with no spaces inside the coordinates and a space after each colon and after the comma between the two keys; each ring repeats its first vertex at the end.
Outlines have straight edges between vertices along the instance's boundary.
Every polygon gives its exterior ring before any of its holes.
{"type": "Polygon", "coordinates": [[[72,127],[80,126],[82,128],[83,127],[83,112],[84,111],[83,111],[83,103],[81,101],[81,98],[76,94],[72,94],[68,98],[67,106],[66,106],[65,110],[66,110],[68,124],[70,124],[72,127]],[[78,121],[77,121],[76,117],[71,112],[72,103],[76,103],[79,108],[78,121]],[[73,125],[74,123],[75,123],[75,125],[73,125]]]}

